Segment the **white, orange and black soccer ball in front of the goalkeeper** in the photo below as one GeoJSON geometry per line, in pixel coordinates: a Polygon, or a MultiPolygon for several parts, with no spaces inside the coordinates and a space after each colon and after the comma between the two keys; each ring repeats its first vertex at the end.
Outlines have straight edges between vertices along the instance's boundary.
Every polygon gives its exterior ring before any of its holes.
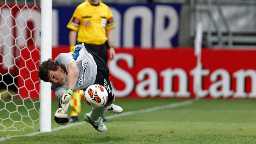
{"type": "Polygon", "coordinates": [[[107,90],[100,84],[93,84],[84,92],[84,100],[91,107],[102,107],[107,103],[107,98],[107,90]]]}

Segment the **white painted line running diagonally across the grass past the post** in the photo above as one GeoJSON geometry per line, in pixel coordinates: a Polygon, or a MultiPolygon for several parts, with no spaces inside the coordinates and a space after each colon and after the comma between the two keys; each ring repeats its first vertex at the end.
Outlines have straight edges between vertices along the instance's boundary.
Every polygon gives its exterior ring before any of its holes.
{"type": "MultiPolygon", "coordinates": [[[[159,107],[152,107],[149,109],[142,109],[142,110],[137,110],[137,111],[127,111],[127,112],[123,112],[121,114],[115,114],[113,116],[105,116],[107,119],[110,118],[117,118],[117,117],[121,117],[121,116],[127,116],[127,115],[131,115],[131,114],[140,114],[140,113],[146,113],[146,112],[151,112],[151,111],[157,111],[157,110],[161,110],[161,109],[169,109],[169,108],[174,108],[174,107],[180,107],[180,106],[184,106],[184,105],[190,105],[194,102],[194,100],[187,100],[184,102],[177,102],[174,104],[170,104],[170,105],[163,105],[163,106],[159,106],[159,107]]],[[[63,126],[59,126],[56,128],[52,128],[51,132],[57,131],[57,130],[62,130],[64,128],[70,128],[74,125],[81,125],[86,123],[85,121],[83,122],[77,122],[77,123],[71,123],[68,125],[63,125],[63,126]]],[[[13,137],[26,137],[26,136],[34,136],[34,135],[38,135],[40,133],[44,133],[44,132],[32,132],[26,135],[7,135],[6,137],[0,137],[0,142],[7,140],[7,139],[11,139],[13,137]]]]}

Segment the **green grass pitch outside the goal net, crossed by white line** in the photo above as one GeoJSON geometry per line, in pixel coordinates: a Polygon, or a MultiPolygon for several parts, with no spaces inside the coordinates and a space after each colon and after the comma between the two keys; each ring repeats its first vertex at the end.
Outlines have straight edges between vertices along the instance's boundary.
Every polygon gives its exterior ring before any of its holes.
{"type": "MultiPolygon", "coordinates": [[[[185,99],[116,99],[115,104],[128,111],[149,109],[185,99]]],[[[57,101],[52,100],[52,128],[60,127],[53,116],[57,101]]],[[[88,123],[33,136],[12,137],[4,144],[255,144],[256,100],[199,100],[190,105],[111,118],[106,132],[98,132],[88,123]]],[[[79,120],[91,108],[82,100],[79,120]]],[[[70,114],[70,110],[67,112],[70,114]]],[[[116,114],[114,114],[116,115],[116,114]]],[[[33,132],[0,132],[0,136],[33,132]]],[[[1,138],[1,137],[0,137],[1,138]]]]}

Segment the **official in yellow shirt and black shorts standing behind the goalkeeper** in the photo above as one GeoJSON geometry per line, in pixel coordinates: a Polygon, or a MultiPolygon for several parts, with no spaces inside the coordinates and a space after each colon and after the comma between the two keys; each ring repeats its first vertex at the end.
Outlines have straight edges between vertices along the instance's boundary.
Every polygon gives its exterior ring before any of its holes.
{"type": "MultiPolygon", "coordinates": [[[[109,7],[100,0],[85,0],[77,6],[71,17],[67,28],[70,29],[69,43],[70,51],[74,46],[84,43],[87,51],[93,51],[107,63],[109,49],[109,60],[115,58],[114,37],[112,29],[115,27],[113,15],[109,7]]],[[[78,122],[78,113],[81,111],[82,93],[73,93],[70,100],[71,122],[78,122]]],[[[111,122],[103,117],[103,121],[111,122]]]]}

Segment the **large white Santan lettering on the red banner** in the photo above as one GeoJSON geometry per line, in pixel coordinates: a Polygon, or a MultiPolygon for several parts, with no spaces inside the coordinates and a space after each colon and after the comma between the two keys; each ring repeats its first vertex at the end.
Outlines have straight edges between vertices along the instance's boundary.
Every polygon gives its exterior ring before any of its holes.
{"type": "MultiPolygon", "coordinates": [[[[109,70],[111,74],[117,79],[121,80],[125,84],[124,90],[116,90],[112,84],[112,88],[115,92],[116,97],[126,97],[133,92],[135,92],[141,98],[145,97],[156,97],[160,95],[161,97],[168,98],[189,98],[191,93],[188,91],[188,75],[182,68],[175,69],[165,69],[160,72],[160,76],[163,77],[163,91],[158,88],[158,73],[154,68],[145,67],[137,73],[137,80],[140,81],[135,86],[135,80],[132,75],[126,70],[121,69],[117,63],[119,60],[124,60],[128,64],[128,68],[132,69],[134,66],[133,56],[127,53],[117,53],[114,60],[109,61],[109,70]],[[145,80],[145,76],[148,79],[145,80]],[[174,92],[172,90],[173,77],[177,76],[179,78],[179,90],[174,92]],[[146,89],[147,87],[147,89],[146,89]]],[[[193,76],[193,92],[195,93],[195,79],[199,77],[199,98],[205,98],[207,95],[211,95],[212,98],[229,98],[232,95],[234,98],[256,98],[256,70],[238,70],[233,73],[233,77],[236,79],[236,91],[231,90],[231,77],[227,70],[217,69],[210,73],[210,70],[202,69],[202,65],[195,67],[190,71],[193,76]],[[199,74],[196,74],[196,70],[199,68],[199,74]],[[209,86],[209,90],[202,89],[203,79],[202,77],[209,76],[209,80],[212,82],[209,86]],[[221,77],[221,79],[219,79],[221,77]],[[251,79],[251,92],[248,94],[245,92],[246,79],[251,79]],[[219,88],[221,88],[219,90],[219,88]]]]}

